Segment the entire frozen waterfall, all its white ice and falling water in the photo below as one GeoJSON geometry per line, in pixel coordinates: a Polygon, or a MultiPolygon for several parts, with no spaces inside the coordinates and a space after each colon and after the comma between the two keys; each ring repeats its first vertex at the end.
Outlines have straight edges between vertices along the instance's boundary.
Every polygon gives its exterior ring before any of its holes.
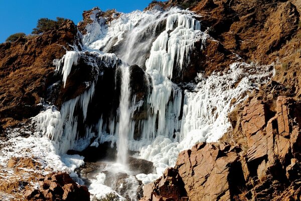
{"type": "MultiPolygon", "coordinates": [[[[246,98],[248,91],[257,88],[259,83],[267,82],[272,75],[268,67],[233,63],[228,70],[214,72],[208,77],[200,72],[194,82],[183,82],[180,86],[171,81],[175,76],[175,66],[181,72],[189,64],[195,43],[201,41],[201,48],[205,48],[206,39],[213,40],[201,31],[201,23],[197,20],[199,16],[178,8],[163,11],[156,7],[152,11],[118,14],[106,24],[104,18],[96,17],[98,12],[95,10],[90,16],[92,23],[87,25],[87,34],[82,37],[83,50],[68,51],[54,64],[57,72],[62,74],[64,86],[72,67],[86,52],[121,71],[116,117],[105,121],[101,116],[97,124],[86,126],[84,137],[79,137],[78,117],[74,111],[76,107],[82,109],[85,123],[98,81],[95,79],[87,83],[83,94],[65,102],[60,111],[55,106],[44,106],[45,111],[32,118],[35,136],[11,139],[11,147],[3,149],[5,153],[0,157],[0,165],[11,156],[34,155],[45,168],[69,171],[81,183],[74,170],[84,163],[84,158],[67,155],[67,151],[82,151],[88,146],[110,142],[112,147],[117,146],[119,165],[108,163],[103,171],[124,172],[131,175],[131,182],[137,178],[146,184],[159,178],[167,167],[174,166],[182,150],[198,142],[217,141],[230,131],[232,127],[227,114],[246,98]],[[164,29],[160,29],[162,26],[164,29]],[[118,59],[121,59],[121,65],[118,59]],[[151,80],[147,83],[150,86],[147,97],[139,102],[136,102],[135,95],[130,96],[129,66],[132,64],[144,67],[146,80],[151,80]],[[232,100],[236,101],[233,103],[232,100]],[[133,120],[134,112],[143,104],[149,106],[147,118],[133,120]],[[133,137],[135,128],[141,133],[138,140],[133,137]],[[95,140],[90,144],[92,138],[95,140]],[[31,152],[20,151],[28,147],[31,152]],[[133,175],[126,168],[128,150],[136,153],[134,157],[152,161],[156,172],[133,175]]],[[[97,69],[99,77],[102,76],[92,59],[91,66],[97,69]]],[[[101,198],[113,191],[112,187],[104,185],[105,178],[106,174],[101,172],[91,179],[91,196],[101,198]]],[[[137,199],[134,193],[130,195],[132,200],[137,199]]],[[[120,195],[119,198],[123,199],[120,195]]]]}

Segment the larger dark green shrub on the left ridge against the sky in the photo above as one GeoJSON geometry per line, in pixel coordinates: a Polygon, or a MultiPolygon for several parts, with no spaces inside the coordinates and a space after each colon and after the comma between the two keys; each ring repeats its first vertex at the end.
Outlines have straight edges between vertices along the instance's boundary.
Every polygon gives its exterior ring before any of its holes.
{"type": "Polygon", "coordinates": [[[50,20],[48,18],[41,18],[38,20],[37,28],[33,29],[32,34],[41,34],[50,30],[58,29],[59,26],[67,19],[57,17],[57,20],[50,20]]]}

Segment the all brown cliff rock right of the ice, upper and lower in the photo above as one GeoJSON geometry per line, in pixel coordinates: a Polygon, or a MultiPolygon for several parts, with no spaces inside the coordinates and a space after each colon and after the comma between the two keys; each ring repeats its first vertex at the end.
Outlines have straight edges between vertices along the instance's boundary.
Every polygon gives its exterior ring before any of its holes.
{"type": "Polygon", "coordinates": [[[144,186],[142,200],[301,199],[300,4],[208,0],[186,5],[224,50],[248,62],[274,62],[274,76],[229,114],[233,131],[218,143],[180,153],[174,168],[144,186]]]}

